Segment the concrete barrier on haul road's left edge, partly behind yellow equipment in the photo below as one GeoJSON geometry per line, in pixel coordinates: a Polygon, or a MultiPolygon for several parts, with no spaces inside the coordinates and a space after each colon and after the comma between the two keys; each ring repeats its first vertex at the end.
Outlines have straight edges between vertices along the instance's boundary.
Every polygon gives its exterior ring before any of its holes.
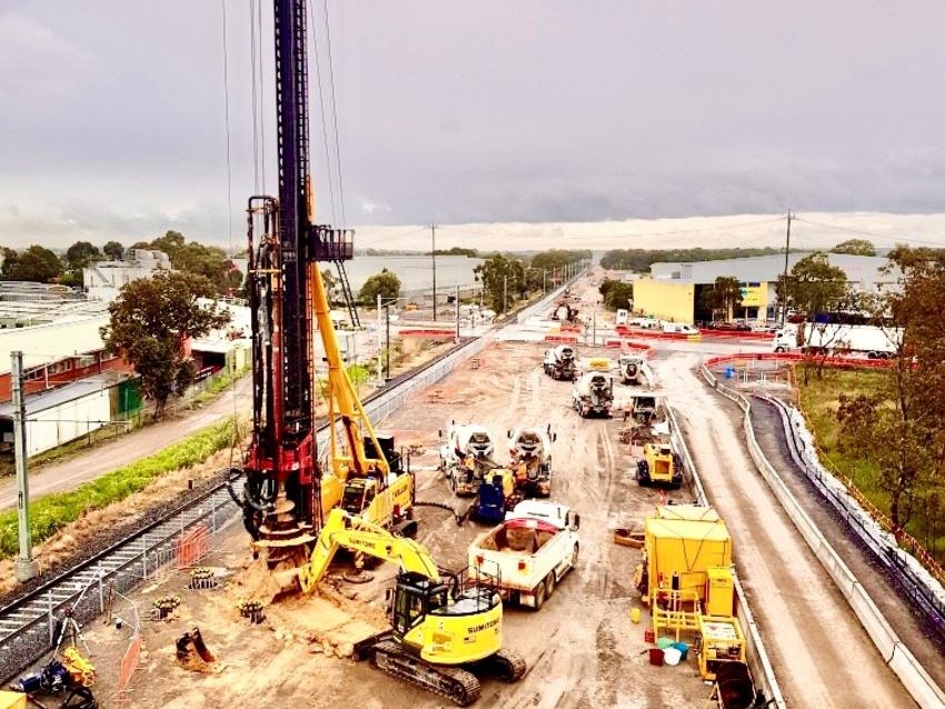
{"type": "MultiPolygon", "coordinates": [[[[669,406],[665,406],[665,409],[666,418],[669,421],[669,438],[673,448],[679,451],[679,457],[683,459],[683,473],[695,493],[696,501],[699,505],[708,506],[709,500],[706,496],[705,487],[703,486],[696,463],[689,453],[689,447],[683,436],[683,430],[679,428],[676,413],[669,406]]],[[[765,692],[765,697],[769,701],[773,701],[778,709],[785,709],[787,703],[784,700],[780,686],[775,677],[775,670],[765,649],[760,630],[758,630],[755,617],[748,606],[748,597],[745,595],[745,589],[735,569],[732,569],[732,579],[735,586],[734,613],[742,623],[742,630],[745,635],[745,660],[748,669],[752,671],[752,678],[755,681],[755,686],[765,692]]]]}

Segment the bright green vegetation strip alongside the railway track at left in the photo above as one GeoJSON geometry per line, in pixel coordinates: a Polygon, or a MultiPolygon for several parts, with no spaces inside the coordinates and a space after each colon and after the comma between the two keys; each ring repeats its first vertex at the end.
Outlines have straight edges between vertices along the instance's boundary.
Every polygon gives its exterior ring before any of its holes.
{"type": "MultiPolygon", "coordinates": [[[[208,427],[163,450],[122,466],[86,482],[69,492],[53,492],[30,505],[30,530],[33,543],[49,539],[58,530],[83,513],[101,509],[140,492],[157,478],[181,468],[206,462],[210,456],[228,448],[233,440],[235,419],[208,427]]],[[[0,558],[16,556],[17,510],[0,512],[0,558]]]]}

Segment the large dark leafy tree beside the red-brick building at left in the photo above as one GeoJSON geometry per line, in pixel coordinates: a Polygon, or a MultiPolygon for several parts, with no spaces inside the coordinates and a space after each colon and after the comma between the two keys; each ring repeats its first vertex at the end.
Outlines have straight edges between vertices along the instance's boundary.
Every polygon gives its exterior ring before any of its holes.
{"type": "Polygon", "coordinates": [[[229,322],[216,303],[212,283],[192,273],[159,272],[127,283],[109,303],[109,323],[101,329],[106,347],[121,354],[141,378],[141,390],[155,402],[160,418],[171,395],[180,396],[193,382],[193,362],[185,352],[188,339],[203,337],[229,322]]]}

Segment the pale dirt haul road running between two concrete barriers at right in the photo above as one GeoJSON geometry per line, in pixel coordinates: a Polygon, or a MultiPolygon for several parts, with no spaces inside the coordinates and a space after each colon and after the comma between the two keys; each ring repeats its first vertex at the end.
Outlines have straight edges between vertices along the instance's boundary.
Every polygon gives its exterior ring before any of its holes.
{"type": "Polygon", "coordinates": [[[740,410],[705,385],[698,362],[663,352],[654,365],[732,532],[735,566],[788,705],[915,706],[757,472],[740,410]]]}

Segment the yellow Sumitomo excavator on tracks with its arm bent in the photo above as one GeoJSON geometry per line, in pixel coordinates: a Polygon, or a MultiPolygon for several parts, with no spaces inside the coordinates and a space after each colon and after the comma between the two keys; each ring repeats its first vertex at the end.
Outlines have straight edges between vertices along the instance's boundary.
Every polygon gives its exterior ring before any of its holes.
{"type": "Polygon", "coordinates": [[[503,605],[495,586],[462,573],[442,580],[421,543],[336,508],[311,559],[299,568],[306,593],[325,576],[339,548],[400,563],[391,628],[358,643],[356,659],[370,659],[371,667],[462,707],[479,698],[474,671],[488,671],[507,682],[525,675],[525,660],[503,649],[503,605]]]}

